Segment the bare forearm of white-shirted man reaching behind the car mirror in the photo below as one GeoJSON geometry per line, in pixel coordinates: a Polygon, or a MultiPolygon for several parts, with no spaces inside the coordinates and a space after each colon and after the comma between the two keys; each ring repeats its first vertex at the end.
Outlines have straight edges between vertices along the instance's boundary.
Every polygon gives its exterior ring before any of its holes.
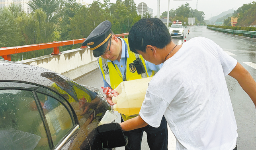
{"type": "Polygon", "coordinates": [[[130,131],[130,130],[146,127],[148,124],[141,118],[141,116],[137,116],[120,123],[120,125],[123,131],[130,131]]]}

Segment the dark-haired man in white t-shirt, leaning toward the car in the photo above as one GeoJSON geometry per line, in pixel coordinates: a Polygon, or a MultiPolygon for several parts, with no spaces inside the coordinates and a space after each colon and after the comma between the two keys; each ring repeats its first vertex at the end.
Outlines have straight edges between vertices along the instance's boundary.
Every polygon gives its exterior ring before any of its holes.
{"type": "Polygon", "coordinates": [[[140,115],[123,131],[159,127],[164,115],[176,150],[236,150],[236,120],[225,76],[234,77],[256,105],[256,83],[233,57],[208,38],[171,41],[157,18],[143,18],[129,32],[131,51],[162,68],[149,83],[140,115]]]}

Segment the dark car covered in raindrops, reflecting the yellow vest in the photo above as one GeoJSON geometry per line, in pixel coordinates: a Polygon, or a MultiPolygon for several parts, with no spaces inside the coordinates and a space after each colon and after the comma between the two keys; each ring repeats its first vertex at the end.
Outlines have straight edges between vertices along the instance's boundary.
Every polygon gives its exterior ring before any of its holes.
{"type": "MultiPolygon", "coordinates": [[[[0,60],[0,70],[0,145],[4,150],[103,149],[105,139],[99,135],[105,131],[97,127],[111,107],[97,88],[32,65],[0,60]]],[[[122,134],[117,124],[109,127],[122,134]]]]}

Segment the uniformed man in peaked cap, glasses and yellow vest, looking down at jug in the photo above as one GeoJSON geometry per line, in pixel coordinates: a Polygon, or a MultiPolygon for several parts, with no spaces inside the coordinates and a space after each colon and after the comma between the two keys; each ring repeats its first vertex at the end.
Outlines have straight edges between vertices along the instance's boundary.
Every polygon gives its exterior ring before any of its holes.
{"type": "MultiPolygon", "coordinates": [[[[100,23],[92,33],[84,40],[82,46],[88,45],[93,51],[94,57],[98,59],[102,73],[104,86],[115,89],[122,81],[151,77],[154,71],[158,71],[162,65],[154,65],[143,59],[142,56],[134,54],[129,49],[128,39],[113,35],[111,23],[104,21],[100,23]]],[[[113,94],[107,96],[110,105],[113,94]]],[[[139,115],[139,114],[137,114],[139,115]]],[[[136,117],[121,114],[121,122],[136,117]]],[[[147,133],[147,140],[151,150],[167,150],[168,131],[166,119],[162,117],[158,128],[146,126],[124,134],[128,137],[125,150],[140,150],[143,131],[147,133]]]]}

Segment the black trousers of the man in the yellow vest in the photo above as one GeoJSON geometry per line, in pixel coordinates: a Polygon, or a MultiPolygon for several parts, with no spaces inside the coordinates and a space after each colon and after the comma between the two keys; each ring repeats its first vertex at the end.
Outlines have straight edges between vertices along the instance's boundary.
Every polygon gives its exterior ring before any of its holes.
{"type": "MultiPolygon", "coordinates": [[[[121,122],[123,122],[122,117],[121,122]]],[[[124,132],[124,135],[128,137],[128,144],[125,146],[125,150],[141,150],[143,131],[147,133],[147,142],[150,150],[168,150],[168,130],[164,117],[162,117],[158,128],[147,125],[143,128],[124,132]]]]}

